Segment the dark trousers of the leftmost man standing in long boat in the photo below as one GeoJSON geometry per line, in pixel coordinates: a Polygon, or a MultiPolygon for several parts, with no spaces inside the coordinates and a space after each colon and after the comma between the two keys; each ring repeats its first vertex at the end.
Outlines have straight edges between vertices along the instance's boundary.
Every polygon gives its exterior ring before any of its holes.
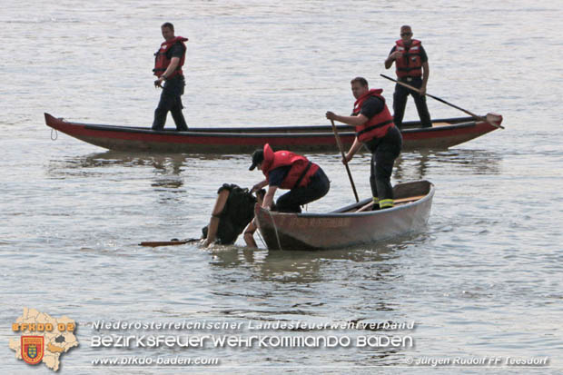
{"type": "Polygon", "coordinates": [[[174,123],[176,123],[176,130],[187,131],[188,125],[182,114],[182,99],[183,87],[185,81],[183,75],[176,75],[164,83],[161,100],[154,110],[153,130],[163,130],[166,123],[166,116],[168,112],[172,113],[174,123]]]}

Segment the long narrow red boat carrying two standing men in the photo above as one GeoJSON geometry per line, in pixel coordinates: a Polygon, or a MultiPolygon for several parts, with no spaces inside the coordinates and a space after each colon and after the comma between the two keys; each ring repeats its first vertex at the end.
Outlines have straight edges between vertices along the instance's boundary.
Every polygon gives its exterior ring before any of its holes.
{"type": "MultiPolygon", "coordinates": [[[[272,148],[294,152],[334,152],[338,150],[331,125],[279,127],[216,127],[190,128],[188,132],[175,130],[153,131],[147,127],[71,123],[44,113],[51,128],[86,143],[109,150],[155,153],[252,153],[270,143],[272,148]]],[[[502,116],[489,113],[487,119],[495,124],[502,116]]],[[[431,128],[420,128],[420,122],[404,123],[401,130],[403,151],[445,149],[467,142],[497,129],[485,121],[472,117],[440,119],[431,128]]],[[[339,125],[338,131],[345,147],[354,140],[353,128],[339,125]]]]}

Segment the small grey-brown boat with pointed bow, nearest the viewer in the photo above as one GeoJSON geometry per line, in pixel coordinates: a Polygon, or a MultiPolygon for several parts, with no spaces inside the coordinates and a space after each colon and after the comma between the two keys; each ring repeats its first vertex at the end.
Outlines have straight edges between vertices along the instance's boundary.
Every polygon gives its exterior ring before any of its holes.
{"type": "Polygon", "coordinates": [[[337,249],[378,242],[426,224],[434,185],[420,180],[393,187],[395,207],[371,211],[371,198],[329,213],[283,213],[254,207],[268,249],[337,249]]]}

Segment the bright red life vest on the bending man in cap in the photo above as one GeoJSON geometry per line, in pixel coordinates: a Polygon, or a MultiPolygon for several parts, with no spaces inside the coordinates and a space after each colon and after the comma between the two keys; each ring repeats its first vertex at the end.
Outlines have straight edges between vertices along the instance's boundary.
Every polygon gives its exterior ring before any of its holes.
{"type": "Polygon", "coordinates": [[[269,180],[269,174],[276,168],[291,165],[290,172],[280,184],[282,189],[293,189],[296,187],[307,186],[311,181],[311,176],[319,170],[319,165],[311,163],[305,156],[291,153],[289,151],[276,151],[275,153],[270,144],[264,144],[264,160],[262,162],[262,173],[269,180]]]}

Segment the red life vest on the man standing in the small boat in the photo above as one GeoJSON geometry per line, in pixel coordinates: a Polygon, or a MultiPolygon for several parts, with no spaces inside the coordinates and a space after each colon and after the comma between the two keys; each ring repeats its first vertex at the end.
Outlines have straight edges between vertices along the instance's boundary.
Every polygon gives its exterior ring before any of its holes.
{"type": "Polygon", "coordinates": [[[393,123],[393,116],[391,116],[389,108],[387,108],[387,104],[385,104],[385,98],[381,96],[382,92],[382,89],[371,89],[366,94],[361,95],[360,99],[354,103],[354,110],[352,114],[357,116],[360,114],[361,104],[363,104],[363,102],[365,102],[365,100],[370,96],[375,96],[383,101],[383,110],[380,113],[371,117],[367,123],[356,126],[356,136],[360,142],[365,143],[373,138],[382,138],[385,134],[387,134],[390,128],[395,126],[395,123],[393,123]]]}

